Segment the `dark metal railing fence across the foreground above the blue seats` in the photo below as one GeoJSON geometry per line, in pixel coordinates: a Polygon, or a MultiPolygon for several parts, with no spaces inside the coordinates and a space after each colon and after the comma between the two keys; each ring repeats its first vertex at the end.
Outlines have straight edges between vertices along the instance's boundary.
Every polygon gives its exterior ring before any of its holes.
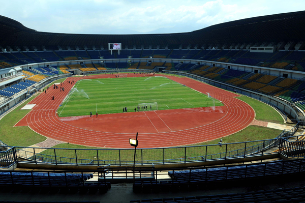
{"type": "MultiPolygon", "coordinates": [[[[283,143],[303,127],[298,122],[291,130],[284,130],[275,139],[246,141],[237,143],[219,143],[205,146],[173,147],[137,149],[137,165],[189,163],[211,160],[226,160],[245,158],[267,154],[292,153],[294,148],[283,148],[283,143]],[[288,152],[286,152],[288,151],[288,152]]],[[[298,140],[300,150],[305,140],[298,140]]],[[[12,163],[51,163],[56,165],[132,165],[134,149],[57,149],[57,148],[28,148],[9,147],[0,152],[0,167],[7,167],[12,163]],[[5,164],[6,163],[6,164],[5,164]]]]}

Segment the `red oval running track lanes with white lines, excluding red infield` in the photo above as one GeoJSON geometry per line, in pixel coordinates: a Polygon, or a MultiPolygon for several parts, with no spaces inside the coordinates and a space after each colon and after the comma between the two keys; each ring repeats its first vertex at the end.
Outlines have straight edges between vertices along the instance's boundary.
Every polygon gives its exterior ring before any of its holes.
{"type": "MultiPolygon", "coordinates": [[[[134,74],[128,75],[134,77],[134,74]]],[[[136,75],[141,76],[141,75],[136,75]]],[[[164,75],[165,77],[185,84],[190,88],[220,100],[227,108],[226,114],[219,120],[197,128],[161,133],[139,133],[139,148],[175,147],[185,144],[194,144],[214,140],[236,133],[249,126],[255,119],[255,111],[247,103],[236,99],[237,94],[227,92],[202,82],[186,78],[164,75]]],[[[109,78],[115,75],[94,75],[88,78],[109,78]]],[[[47,94],[41,93],[29,104],[36,106],[16,126],[28,125],[35,132],[52,139],[100,148],[131,148],[129,138],[135,138],[131,133],[113,133],[87,130],[69,125],[57,116],[56,109],[68,95],[77,80],[82,77],[69,77],[65,80],[65,92],[53,90],[51,87],[47,94]],[[73,84],[68,81],[75,80],[73,84]],[[55,100],[51,100],[51,96],[55,100]]],[[[59,85],[60,86],[60,85],[59,85]]],[[[177,115],[173,114],[173,117],[177,115]]],[[[115,125],[115,124],[114,124],[115,125]]],[[[179,124],[181,125],[181,124],[179,124]]]]}

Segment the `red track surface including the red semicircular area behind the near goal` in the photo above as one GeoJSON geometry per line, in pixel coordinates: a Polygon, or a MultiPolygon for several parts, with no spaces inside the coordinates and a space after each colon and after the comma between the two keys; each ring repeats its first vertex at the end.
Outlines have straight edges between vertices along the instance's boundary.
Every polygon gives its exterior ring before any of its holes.
{"type": "MultiPolygon", "coordinates": [[[[134,76],[143,75],[128,75],[128,77],[134,76]]],[[[185,84],[186,86],[189,86],[190,88],[198,92],[204,94],[208,92],[210,93],[211,97],[220,100],[225,106],[221,107],[223,111],[216,117],[212,114],[205,114],[205,117],[210,117],[205,118],[210,122],[203,123],[200,126],[196,124],[197,127],[190,125],[190,123],[194,122],[187,122],[186,120],[189,119],[185,119],[183,117],[184,114],[181,114],[181,112],[188,111],[186,109],[145,112],[147,113],[147,115],[145,115],[145,119],[151,118],[151,120],[153,120],[151,121],[151,124],[155,124],[157,128],[155,128],[155,130],[151,128],[153,130],[149,130],[149,132],[147,132],[147,128],[145,128],[146,131],[143,131],[143,133],[139,133],[139,148],[174,147],[182,146],[185,144],[194,144],[214,140],[220,137],[231,135],[246,128],[255,119],[255,112],[253,108],[247,103],[237,98],[234,98],[238,97],[237,94],[227,92],[225,90],[216,88],[215,86],[211,86],[186,77],[179,78],[168,75],[164,76],[173,81],[185,84]],[[156,115],[153,114],[154,112],[156,115]],[[167,114],[167,117],[162,117],[162,114],[167,114]],[[176,121],[178,121],[178,115],[180,115],[180,121],[176,122],[176,127],[174,127],[173,123],[169,125],[169,120],[171,120],[171,118],[176,119],[176,121]],[[162,119],[160,120],[158,117],[162,119]]],[[[94,75],[85,78],[87,79],[109,77],[114,78],[115,75],[94,75]]],[[[36,106],[15,126],[28,125],[32,130],[43,136],[84,146],[100,148],[131,148],[129,144],[129,138],[135,138],[135,132],[128,132],[128,130],[125,132],[125,126],[123,125],[121,127],[119,123],[121,121],[119,119],[117,120],[117,122],[115,122],[114,120],[112,122],[107,123],[106,126],[108,128],[106,128],[106,130],[104,129],[104,131],[106,132],[103,132],[102,130],[97,130],[94,127],[85,129],[85,126],[88,125],[81,126],[80,124],[77,124],[77,121],[64,121],[65,119],[58,117],[56,113],[58,106],[65,99],[65,97],[68,95],[69,91],[75,84],[75,82],[68,83],[68,81],[77,81],[80,79],[83,78],[67,78],[65,80],[65,84],[63,84],[66,89],[65,92],[59,92],[59,90],[53,90],[52,88],[49,88],[47,90],[47,94],[41,93],[38,97],[29,102],[29,104],[36,104],[36,106]],[[51,100],[51,96],[54,96],[55,100],[51,100]]],[[[137,122],[137,120],[135,120],[136,118],[143,119],[142,115],[144,112],[136,113],[138,114],[133,114],[132,116],[132,123],[137,122]]],[[[99,118],[102,117],[104,119],[108,115],[99,115],[99,118]]],[[[124,115],[124,117],[127,117],[127,114],[123,113],[117,113],[116,115],[124,115]]],[[[195,114],[192,114],[192,117],[193,116],[196,117],[195,114]]],[[[202,114],[200,115],[200,117],[202,117],[202,114]]],[[[95,118],[94,116],[94,118],[92,119],[97,120],[99,118],[95,118]]],[[[83,119],[88,120],[88,117],[84,117],[83,119]]],[[[125,121],[128,121],[128,119],[125,119],[125,121]]],[[[127,126],[130,125],[131,124],[128,124],[127,122],[127,126]]],[[[97,124],[93,124],[92,126],[97,126],[97,124]]]]}

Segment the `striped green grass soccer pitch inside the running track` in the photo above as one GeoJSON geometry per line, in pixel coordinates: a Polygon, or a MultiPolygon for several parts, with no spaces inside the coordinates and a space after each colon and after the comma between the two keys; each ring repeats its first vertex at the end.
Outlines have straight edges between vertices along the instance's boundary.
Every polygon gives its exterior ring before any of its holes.
{"type": "Polygon", "coordinates": [[[158,110],[223,105],[164,77],[83,79],[76,82],[59,106],[58,116],[119,113],[124,107],[134,112],[139,103],[153,102],[158,103],[158,110]]]}

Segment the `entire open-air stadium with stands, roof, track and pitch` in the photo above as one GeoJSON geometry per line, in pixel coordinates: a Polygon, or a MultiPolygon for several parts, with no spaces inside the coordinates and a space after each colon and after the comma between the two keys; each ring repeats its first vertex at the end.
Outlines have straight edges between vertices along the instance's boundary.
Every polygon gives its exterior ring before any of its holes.
{"type": "Polygon", "coordinates": [[[0,27],[0,200],[303,201],[305,11],[175,34],[0,27]]]}

